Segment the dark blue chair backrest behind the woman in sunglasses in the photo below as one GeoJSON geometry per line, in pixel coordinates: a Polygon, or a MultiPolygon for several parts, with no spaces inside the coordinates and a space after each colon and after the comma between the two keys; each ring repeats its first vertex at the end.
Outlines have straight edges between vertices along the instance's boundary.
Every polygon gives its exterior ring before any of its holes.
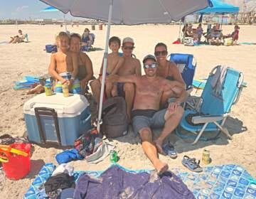
{"type": "Polygon", "coordinates": [[[186,83],[186,89],[193,87],[193,76],[196,70],[196,59],[191,54],[171,53],[170,61],[176,63],[186,83]]]}

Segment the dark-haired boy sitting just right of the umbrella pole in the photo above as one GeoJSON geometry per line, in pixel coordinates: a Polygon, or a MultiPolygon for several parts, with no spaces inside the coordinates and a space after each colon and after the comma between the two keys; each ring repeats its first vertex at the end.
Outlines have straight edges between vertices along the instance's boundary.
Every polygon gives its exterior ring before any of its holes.
{"type": "MultiPolygon", "coordinates": [[[[112,50],[112,53],[107,55],[107,70],[106,70],[106,76],[107,75],[116,75],[119,68],[122,67],[124,64],[124,58],[119,56],[118,50],[121,46],[121,40],[113,36],[110,38],[109,41],[110,49],[112,50]]],[[[102,74],[102,67],[100,68],[100,73],[102,74]]],[[[100,82],[102,81],[102,76],[99,77],[100,82]]],[[[105,93],[107,98],[114,97],[117,95],[117,85],[114,85],[110,81],[105,81],[105,93]]]]}

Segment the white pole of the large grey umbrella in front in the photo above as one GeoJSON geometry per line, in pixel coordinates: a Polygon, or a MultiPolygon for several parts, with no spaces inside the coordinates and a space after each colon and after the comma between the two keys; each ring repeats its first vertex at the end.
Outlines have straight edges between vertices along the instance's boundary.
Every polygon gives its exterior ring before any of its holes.
{"type": "Polygon", "coordinates": [[[97,119],[97,131],[100,132],[100,124],[102,124],[102,103],[103,103],[103,95],[105,92],[105,77],[106,77],[106,70],[107,70],[107,55],[108,55],[108,41],[110,39],[110,23],[112,18],[112,9],[113,9],[113,0],[110,0],[110,9],[109,9],[109,16],[107,21],[107,36],[106,36],[106,44],[105,44],[105,53],[103,59],[103,70],[102,70],[102,85],[100,89],[100,106],[98,112],[98,119],[97,119]]]}

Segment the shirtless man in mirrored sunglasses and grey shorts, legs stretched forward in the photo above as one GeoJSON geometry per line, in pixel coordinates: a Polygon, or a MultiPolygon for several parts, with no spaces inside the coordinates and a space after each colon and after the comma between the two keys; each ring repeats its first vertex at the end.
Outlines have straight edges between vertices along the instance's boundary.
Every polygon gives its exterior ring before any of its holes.
{"type": "Polygon", "coordinates": [[[162,144],[166,136],[178,126],[183,109],[179,104],[186,99],[186,91],[178,81],[165,80],[156,75],[156,58],[146,55],[143,60],[146,75],[111,75],[107,77],[112,82],[130,82],[136,85],[134,107],[132,110],[132,126],[142,139],[142,149],[153,163],[158,173],[168,170],[167,163],[159,160],[157,152],[163,153],[162,144]],[[167,109],[159,111],[161,95],[167,90],[178,93],[176,101],[167,109]],[[153,141],[151,127],[164,127],[158,139],[153,141]]]}

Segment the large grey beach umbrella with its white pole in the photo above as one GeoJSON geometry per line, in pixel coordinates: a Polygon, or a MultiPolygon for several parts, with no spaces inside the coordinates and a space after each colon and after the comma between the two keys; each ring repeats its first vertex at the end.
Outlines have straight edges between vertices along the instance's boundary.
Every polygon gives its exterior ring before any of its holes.
{"type": "Polygon", "coordinates": [[[107,68],[110,23],[134,25],[140,23],[171,23],[209,5],[208,0],[40,0],[72,16],[107,21],[107,36],[102,70],[97,130],[102,123],[102,101],[107,68]]]}

